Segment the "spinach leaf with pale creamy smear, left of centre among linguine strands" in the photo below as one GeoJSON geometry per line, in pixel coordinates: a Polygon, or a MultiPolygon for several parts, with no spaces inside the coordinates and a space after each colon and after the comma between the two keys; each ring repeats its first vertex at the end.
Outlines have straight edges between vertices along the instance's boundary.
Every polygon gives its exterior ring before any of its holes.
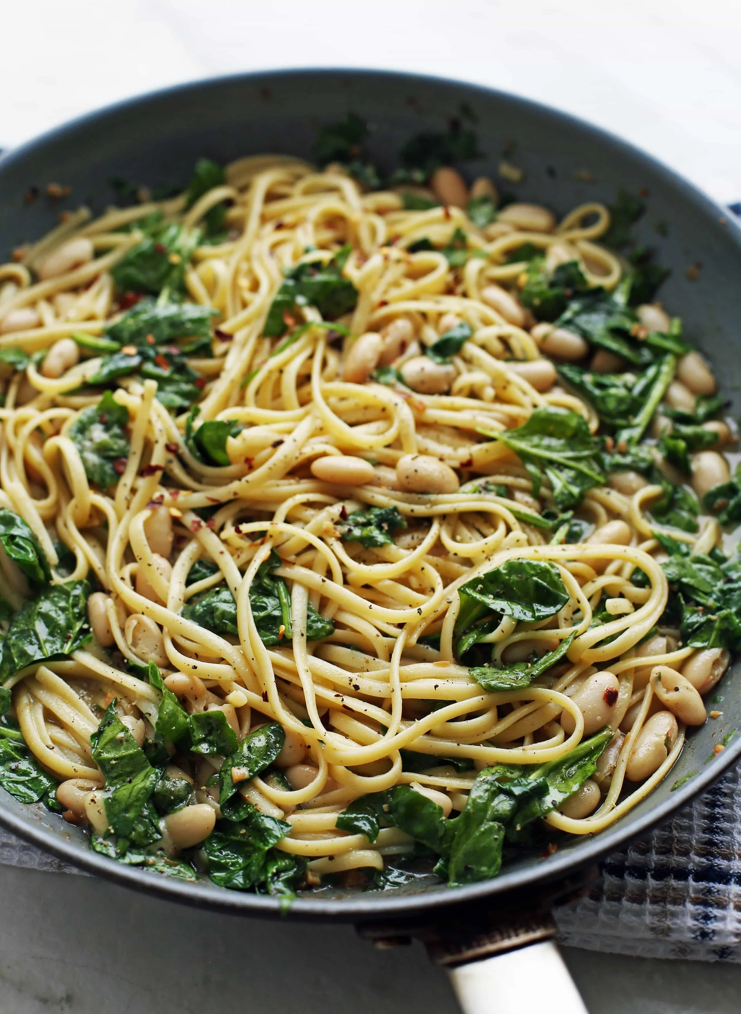
{"type": "Polygon", "coordinates": [[[124,473],[129,457],[128,423],[129,410],[106,390],[97,405],[82,410],[70,428],[85,475],[100,489],[115,486],[124,473]]]}

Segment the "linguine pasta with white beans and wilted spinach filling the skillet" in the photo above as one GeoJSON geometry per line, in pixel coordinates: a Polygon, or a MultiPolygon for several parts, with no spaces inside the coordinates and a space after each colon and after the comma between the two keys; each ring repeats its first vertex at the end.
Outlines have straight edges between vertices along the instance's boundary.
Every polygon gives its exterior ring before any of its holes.
{"type": "Polygon", "coordinates": [[[202,160],[0,267],[0,784],[175,876],[465,883],[705,722],[733,434],[624,200],[325,161],[202,160]]]}

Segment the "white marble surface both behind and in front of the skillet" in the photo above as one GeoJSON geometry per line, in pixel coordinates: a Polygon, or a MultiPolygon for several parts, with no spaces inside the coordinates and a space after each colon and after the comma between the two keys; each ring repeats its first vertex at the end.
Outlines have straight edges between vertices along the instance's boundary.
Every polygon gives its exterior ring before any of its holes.
{"type": "MultiPolygon", "coordinates": [[[[418,70],[517,91],[741,199],[732,0],[26,0],[0,10],[0,147],[197,77],[287,66],[418,70]]],[[[352,928],[180,909],[92,878],[0,867],[0,1014],[453,1014],[421,948],[352,928]]],[[[585,951],[592,1014],[738,1012],[741,968],[585,951]]]]}

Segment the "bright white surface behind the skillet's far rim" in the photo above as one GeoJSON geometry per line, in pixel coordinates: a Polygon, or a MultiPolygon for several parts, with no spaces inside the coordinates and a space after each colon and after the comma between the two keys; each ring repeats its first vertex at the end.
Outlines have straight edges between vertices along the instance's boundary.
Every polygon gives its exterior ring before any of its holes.
{"type": "Polygon", "coordinates": [[[0,0],[0,146],[239,70],[427,71],[559,105],[741,200],[737,0],[0,0]]]}

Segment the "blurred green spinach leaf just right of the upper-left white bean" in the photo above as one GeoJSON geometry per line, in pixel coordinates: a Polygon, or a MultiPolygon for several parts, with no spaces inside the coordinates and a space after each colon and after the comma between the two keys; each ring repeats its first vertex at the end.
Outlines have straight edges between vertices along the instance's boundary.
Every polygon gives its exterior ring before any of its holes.
{"type": "Polygon", "coordinates": [[[167,289],[184,295],[186,269],[200,241],[200,229],[175,224],[150,225],[142,240],[112,268],[117,289],[155,296],[167,289]]]}

